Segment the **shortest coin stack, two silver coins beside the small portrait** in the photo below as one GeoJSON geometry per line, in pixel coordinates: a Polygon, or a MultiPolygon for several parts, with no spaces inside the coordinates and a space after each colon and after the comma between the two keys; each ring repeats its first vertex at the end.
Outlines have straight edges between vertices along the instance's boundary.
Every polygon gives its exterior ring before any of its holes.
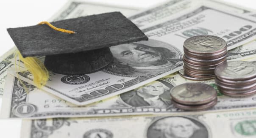
{"type": "Polygon", "coordinates": [[[171,89],[172,103],[184,110],[206,110],[217,103],[217,92],[208,84],[185,83],[171,89]]]}

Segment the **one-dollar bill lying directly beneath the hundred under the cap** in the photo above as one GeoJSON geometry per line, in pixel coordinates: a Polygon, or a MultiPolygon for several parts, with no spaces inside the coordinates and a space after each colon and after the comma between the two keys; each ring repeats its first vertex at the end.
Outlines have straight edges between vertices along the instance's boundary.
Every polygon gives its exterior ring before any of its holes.
{"type": "MultiPolygon", "coordinates": [[[[233,59],[234,60],[234,59],[233,59]]],[[[256,57],[236,60],[256,61],[256,57]]],[[[187,82],[205,83],[218,92],[218,103],[206,112],[256,108],[256,95],[231,98],[217,89],[214,79],[190,81],[174,73],[137,89],[100,100],[86,106],[76,106],[66,100],[42,91],[35,86],[8,75],[4,91],[1,118],[43,119],[53,117],[124,116],[142,114],[193,114],[175,108],[171,103],[170,89],[187,82]],[[22,85],[25,84],[25,85],[22,85]],[[154,95],[157,91],[158,95],[154,95]],[[146,95],[154,95],[146,98],[146,95]]]]}

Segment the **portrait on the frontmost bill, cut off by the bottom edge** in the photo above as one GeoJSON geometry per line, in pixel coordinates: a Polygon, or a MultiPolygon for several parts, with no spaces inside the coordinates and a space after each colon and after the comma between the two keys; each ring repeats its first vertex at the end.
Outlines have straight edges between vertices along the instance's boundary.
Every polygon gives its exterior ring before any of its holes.
{"type": "Polygon", "coordinates": [[[169,116],[151,124],[147,138],[208,138],[206,127],[199,121],[184,116],[169,116]]]}

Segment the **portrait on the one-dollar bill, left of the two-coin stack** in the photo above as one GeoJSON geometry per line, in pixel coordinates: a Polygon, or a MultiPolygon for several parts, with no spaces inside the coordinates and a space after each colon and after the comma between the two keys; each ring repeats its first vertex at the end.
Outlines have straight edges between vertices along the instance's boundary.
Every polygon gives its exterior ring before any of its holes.
{"type": "Polygon", "coordinates": [[[122,93],[120,98],[133,107],[168,108],[171,105],[170,89],[173,85],[157,80],[129,92],[122,93]]]}

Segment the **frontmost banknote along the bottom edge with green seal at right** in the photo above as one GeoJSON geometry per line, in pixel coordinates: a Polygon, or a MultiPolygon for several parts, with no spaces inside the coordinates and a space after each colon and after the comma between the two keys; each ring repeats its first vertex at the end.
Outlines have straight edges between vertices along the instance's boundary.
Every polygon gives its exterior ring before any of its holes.
{"type": "Polygon", "coordinates": [[[24,120],[21,138],[255,138],[256,110],[24,120]]]}

